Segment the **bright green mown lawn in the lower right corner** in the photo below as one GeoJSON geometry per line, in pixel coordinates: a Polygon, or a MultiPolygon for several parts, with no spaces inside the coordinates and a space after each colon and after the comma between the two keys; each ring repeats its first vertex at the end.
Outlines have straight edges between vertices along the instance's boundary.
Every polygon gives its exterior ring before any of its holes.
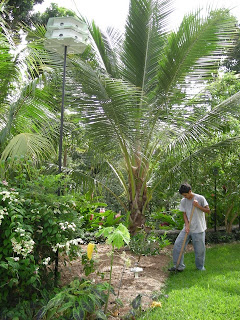
{"type": "Polygon", "coordinates": [[[140,319],[240,319],[240,243],[207,249],[206,271],[195,268],[194,253],[185,254],[184,272],[170,274],[162,308],[147,310],[140,319]]]}

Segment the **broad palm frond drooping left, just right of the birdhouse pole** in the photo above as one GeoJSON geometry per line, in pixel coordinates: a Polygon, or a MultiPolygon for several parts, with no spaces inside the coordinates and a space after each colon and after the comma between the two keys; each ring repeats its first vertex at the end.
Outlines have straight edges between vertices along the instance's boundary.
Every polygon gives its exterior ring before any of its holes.
{"type": "Polygon", "coordinates": [[[113,143],[121,143],[126,137],[132,136],[134,141],[142,115],[136,111],[141,92],[126,81],[103,75],[77,57],[71,61],[70,106],[88,124],[89,137],[104,150],[111,150],[113,143]]]}

